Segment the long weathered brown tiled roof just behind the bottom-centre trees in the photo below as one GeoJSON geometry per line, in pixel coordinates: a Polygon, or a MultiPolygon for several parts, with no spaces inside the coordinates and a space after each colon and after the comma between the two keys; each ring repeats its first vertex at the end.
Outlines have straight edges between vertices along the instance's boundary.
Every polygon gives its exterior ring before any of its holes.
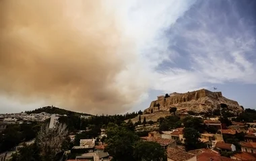
{"type": "Polygon", "coordinates": [[[163,138],[156,138],[156,137],[141,137],[142,140],[148,141],[148,142],[157,142],[160,144],[163,148],[168,147],[176,147],[176,141],[172,139],[163,139],[163,138]]]}

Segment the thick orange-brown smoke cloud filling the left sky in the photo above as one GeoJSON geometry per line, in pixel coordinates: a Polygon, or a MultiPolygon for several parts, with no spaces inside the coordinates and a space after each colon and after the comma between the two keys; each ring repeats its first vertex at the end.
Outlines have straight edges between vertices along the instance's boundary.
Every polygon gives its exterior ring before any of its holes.
{"type": "Polygon", "coordinates": [[[96,0],[0,1],[0,94],[88,113],[126,111],[145,89],[122,77],[134,57],[121,26],[96,0]]]}

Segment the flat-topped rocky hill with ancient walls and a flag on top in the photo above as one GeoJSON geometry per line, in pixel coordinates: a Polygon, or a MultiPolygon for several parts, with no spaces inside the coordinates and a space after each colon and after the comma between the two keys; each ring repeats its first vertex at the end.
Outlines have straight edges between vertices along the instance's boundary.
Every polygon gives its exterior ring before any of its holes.
{"type": "Polygon", "coordinates": [[[220,107],[220,103],[225,103],[232,113],[243,111],[237,101],[226,99],[221,92],[212,92],[206,89],[187,93],[171,93],[170,97],[158,96],[156,101],[152,101],[150,107],[144,113],[169,111],[170,107],[177,107],[177,111],[194,111],[201,113],[213,111],[220,107]],[[159,107],[159,108],[158,108],[159,107]]]}

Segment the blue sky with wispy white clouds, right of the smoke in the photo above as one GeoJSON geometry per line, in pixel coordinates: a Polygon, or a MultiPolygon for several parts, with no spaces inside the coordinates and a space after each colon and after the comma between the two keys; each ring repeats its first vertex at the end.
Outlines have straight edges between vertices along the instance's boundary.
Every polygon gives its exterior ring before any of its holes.
{"type": "Polygon", "coordinates": [[[224,97],[255,108],[255,7],[256,1],[195,1],[165,30],[168,50],[175,54],[156,67],[164,72],[162,85],[141,106],[164,92],[214,86],[224,97]]]}

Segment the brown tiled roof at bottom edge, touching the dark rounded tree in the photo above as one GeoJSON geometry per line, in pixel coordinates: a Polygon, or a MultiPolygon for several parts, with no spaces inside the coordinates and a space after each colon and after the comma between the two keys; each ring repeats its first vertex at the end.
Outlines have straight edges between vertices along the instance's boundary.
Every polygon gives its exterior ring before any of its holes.
{"type": "Polygon", "coordinates": [[[167,148],[166,154],[168,158],[174,161],[189,160],[195,156],[194,154],[184,152],[183,150],[179,150],[177,148],[167,148]]]}

